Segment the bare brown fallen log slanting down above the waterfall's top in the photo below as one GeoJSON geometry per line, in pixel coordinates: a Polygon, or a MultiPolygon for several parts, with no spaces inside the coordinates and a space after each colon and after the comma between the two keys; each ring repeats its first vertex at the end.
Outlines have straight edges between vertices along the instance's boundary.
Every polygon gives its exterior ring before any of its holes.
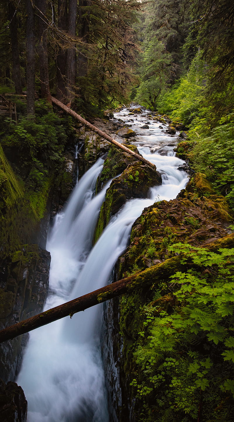
{"type": "Polygon", "coordinates": [[[152,162],[146,160],[144,157],[141,157],[141,155],[137,154],[134,151],[131,151],[127,146],[122,145],[122,143],[119,143],[118,141],[115,141],[111,136],[107,135],[102,130],[98,129],[98,127],[93,126],[93,124],[89,123],[87,120],[83,119],[80,114],[77,114],[75,111],[71,110],[71,108],[65,106],[61,101],[58,101],[56,98],[51,97],[52,103],[55,104],[57,107],[61,108],[61,110],[65,111],[65,113],[70,114],[70,116],[74,117],[74,119],[78,120],[84,126],[87,126],[90,130],[93,130],[93,132],[96,132],[98,135],[100,135],[102,138],[106,139],[106,141],[109,141],[113,143],[118,148],[122,149],[122,151],[128,152],[128,154],[133,155],[137,160],[140,160],[144,162],[144,164],[149,165],[150,167],[155,169],[155,165],[152,164],[152,162]]]}

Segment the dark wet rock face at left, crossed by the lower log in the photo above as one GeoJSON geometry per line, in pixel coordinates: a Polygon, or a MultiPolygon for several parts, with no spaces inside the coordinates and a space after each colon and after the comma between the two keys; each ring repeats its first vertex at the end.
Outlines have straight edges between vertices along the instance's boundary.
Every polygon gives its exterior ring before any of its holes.
{"type": "MultiPolygon", "coordinates": [[[[43,311],[51,256],[37,245],[24,245],[5,259],[0,283],[0,329],[43,311]]],[[[27,335],[0,345],[0,373],[6,382],[15,379],[27,335]]]]}

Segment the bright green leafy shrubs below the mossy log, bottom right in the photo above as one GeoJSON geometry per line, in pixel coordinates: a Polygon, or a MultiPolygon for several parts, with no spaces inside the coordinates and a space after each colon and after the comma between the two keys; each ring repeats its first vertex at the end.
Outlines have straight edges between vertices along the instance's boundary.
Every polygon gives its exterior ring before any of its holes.
{"type": "Polygon", "coordinates": [[[234,401],[234,249],[207,249],[176,243],[171,252],[189,265],[170,279],[174,303],[163,297],[141,309],[141,331],[132,376],[141,402],[138,421],[232,420],[234,401]],[[141,339],[141,340],[140,340],[141,339]]]}

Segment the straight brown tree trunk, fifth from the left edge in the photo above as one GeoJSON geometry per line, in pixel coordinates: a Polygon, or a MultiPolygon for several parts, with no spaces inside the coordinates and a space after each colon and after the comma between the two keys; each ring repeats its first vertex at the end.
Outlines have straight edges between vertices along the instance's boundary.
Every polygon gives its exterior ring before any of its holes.
{"type": "MultiPolygon", "coordinates": [[[[69,36],[74,38],[76,35],[76,16],[77,16],[77,0],[69,0],[68,5],[68,31],[69,36]]],[[[76,78],[76,50],[75,43],[66,51],[66,76],[67,76],[67,100],[69,103],[74,99],[75,95],[75,78],[76,78]]]]}

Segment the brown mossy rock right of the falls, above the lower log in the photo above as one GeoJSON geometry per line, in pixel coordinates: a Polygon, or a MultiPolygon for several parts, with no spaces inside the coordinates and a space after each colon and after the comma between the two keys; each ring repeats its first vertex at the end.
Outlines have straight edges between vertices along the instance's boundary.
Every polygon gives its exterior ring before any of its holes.
{"type": "Polygon", "coordinates": [[[131,244],[121,259],[121,277],[162,262],[170,256],[167,248],[173,243],[205,246],[226,235],[233,216],[225,197],[205,197],[203,191],[212,192],[212,187],[196,174],[176,199],[156,202],[144,210],[133,225],[131,244]]]}

